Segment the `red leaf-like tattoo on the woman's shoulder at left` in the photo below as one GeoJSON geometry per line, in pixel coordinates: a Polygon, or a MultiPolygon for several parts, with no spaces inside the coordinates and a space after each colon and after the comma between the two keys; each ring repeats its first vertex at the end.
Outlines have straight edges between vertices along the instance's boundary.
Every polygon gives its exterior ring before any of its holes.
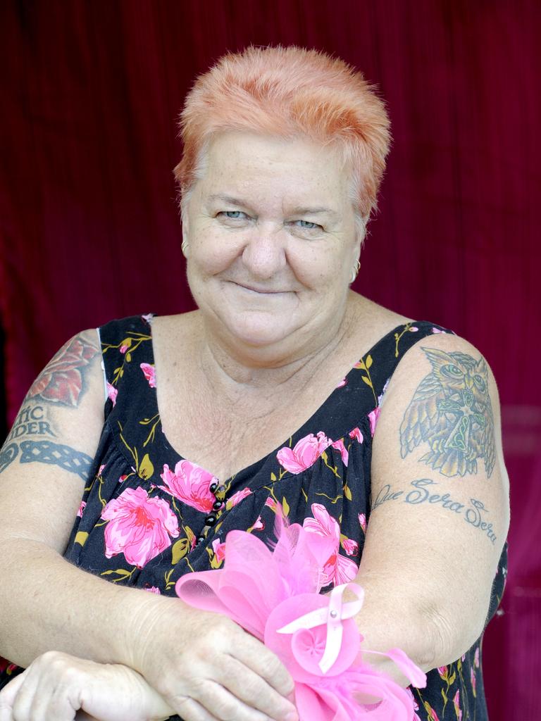
{"type": "Polygon", "coordinates": [[[27,398],[40,396],[45,401],[76,407],[83,387],[80,368],[88,366],[97,349],[77,336],[61,348],[35,379],[27,398]]]}

